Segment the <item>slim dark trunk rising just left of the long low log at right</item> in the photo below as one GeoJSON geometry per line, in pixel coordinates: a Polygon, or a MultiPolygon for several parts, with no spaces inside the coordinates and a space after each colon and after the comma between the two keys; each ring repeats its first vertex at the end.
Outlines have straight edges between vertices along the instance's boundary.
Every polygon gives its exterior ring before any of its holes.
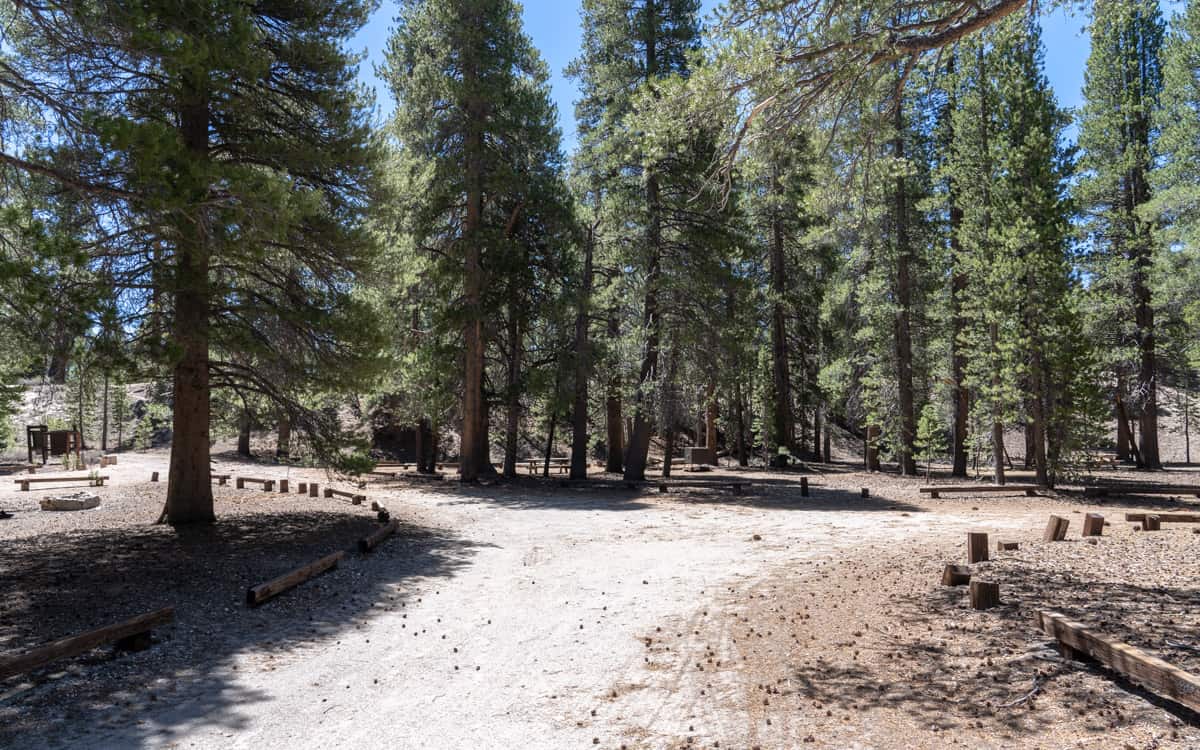
{"type": "MultiPolygon", "coordinates": [[[[904,126],[904,107],[896,106],[894,150],[898,160],[905,158],[904,126]]],[[[900,444],[896,450],[896,460],[900,463],[900,474],[911,476],[917,473],[917,460],[913,451],[913,440],[917,436],[917,413],[912,386],[912,280],[908,268],[912,262],[912,248],[908,239],[908,191],[902,175],[895,180],[895,191],[896,401],[900,409],[900,444]]]]}

